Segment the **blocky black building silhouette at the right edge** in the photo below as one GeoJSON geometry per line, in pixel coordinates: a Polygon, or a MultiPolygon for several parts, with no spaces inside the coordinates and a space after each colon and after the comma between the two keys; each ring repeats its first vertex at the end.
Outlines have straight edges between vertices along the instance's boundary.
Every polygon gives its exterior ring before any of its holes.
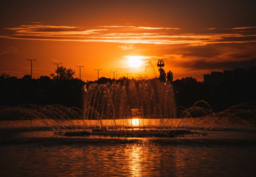
{"type": "Polygon", "coordinates": [[[222,110],[242,102],[256,102],[256,67],[204,75],[205,100],[222,110]]]}

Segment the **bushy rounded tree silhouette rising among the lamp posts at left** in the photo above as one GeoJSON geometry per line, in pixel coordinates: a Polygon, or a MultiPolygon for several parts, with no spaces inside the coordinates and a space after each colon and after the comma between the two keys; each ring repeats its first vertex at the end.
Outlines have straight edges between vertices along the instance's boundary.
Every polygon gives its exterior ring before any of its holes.
{"type": "MultiPolygon", "coordinates": [[[[57,69],[55,70],[55,73],[51,73],[50,76],[53,78],[53,79],[57,79],[57,69]]],[[[75,76],[75,71],[73,71],[71,68],[70,69],[66,69],[64,66],[60,66],[58,67],[58,79],[59,80],[73,80],[75,79],[74,76],[75,76]]]]}

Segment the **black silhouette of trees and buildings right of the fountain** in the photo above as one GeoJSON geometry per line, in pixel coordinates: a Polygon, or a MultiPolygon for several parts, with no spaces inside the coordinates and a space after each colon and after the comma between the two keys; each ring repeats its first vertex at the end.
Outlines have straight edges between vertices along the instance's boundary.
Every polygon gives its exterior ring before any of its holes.
{"type": "Polygon", "coordinates": [[[162,70],[159,80],[172,83],[177,106],[188,108],[197,101],[204,100],[214,111],[220,112],[239,103],[256,102],[255,73],[252,76],[254,77],[249,79],[241,79],[240,76],[236,76],[234,80],[212,79],[206,84],[192,77],[173,81],[172,72],[169,71],[166,76],[162,70]]]}

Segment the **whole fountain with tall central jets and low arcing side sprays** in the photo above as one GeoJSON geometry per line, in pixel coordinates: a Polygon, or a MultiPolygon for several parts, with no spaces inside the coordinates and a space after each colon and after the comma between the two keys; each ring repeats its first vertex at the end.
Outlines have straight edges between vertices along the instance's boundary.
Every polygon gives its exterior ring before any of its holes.
{"type": "MultiPolygon", "coordinates": [[[[226,118],[246,124],[241,117],[256,116],[255,103],[241,103],[219,113],[203,100],[188,109],[176,107],[171,83],[155,77],[151,62],[143,78],[127,79],[122,84],[91,84],[84,87],[83,96],[83,110],[56,104],[2,106],[0,120],[38,120],[44,125],[40,130],[50,128],[55,134],[66,136],[200,137],[226,118]]],[[[253,131],[249,125],[248,128],[253,131]]],[[[1,129],[28,131],[31,127],[1,129]]]]}

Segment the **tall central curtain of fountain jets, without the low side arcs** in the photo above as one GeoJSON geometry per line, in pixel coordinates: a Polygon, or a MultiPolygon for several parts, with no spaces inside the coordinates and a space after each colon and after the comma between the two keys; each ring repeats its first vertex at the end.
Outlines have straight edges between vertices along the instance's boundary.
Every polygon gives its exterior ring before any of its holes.
{"type": "MultiPolygon", "coordinates": [[[[91,84],[85,90],[84,119],[95,120],[103,133],[109,129],[112,134],[123,134],[132,131],[132,135],[146,135],[155,129],[164,130],[171,120],[175,119],[175,99],[170,83],[162,83],[158,79],[127,80],[123,85],[91,84]],[[133,119],[139,118],[140,123],[134,126],[133,119]],[[103,121],[111,120],[113,124],[103,125],[103,121]],[[156,121],[152,125],[153,121],[156,121]],[[135,130],[134,130],[135,128],[135,130]],[[122,133],[121,133],[122,132],[122,133]]],[[[172,124],[172,130],[177,130],[172,124]]],[[[98,130],[99,131],[99,130],[98,130]]],[[[150,133],[149,133],[150,134],[150,133]]]]}

